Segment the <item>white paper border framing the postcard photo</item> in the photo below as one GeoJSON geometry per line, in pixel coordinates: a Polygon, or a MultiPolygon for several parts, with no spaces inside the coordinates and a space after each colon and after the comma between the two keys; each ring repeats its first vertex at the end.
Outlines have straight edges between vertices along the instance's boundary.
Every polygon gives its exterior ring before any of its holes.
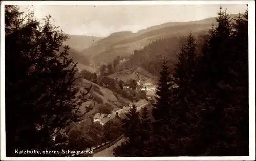
{"type": "Polygon", "coordinates": [[[255,160],[255,2],[254,1],[2,1],[1,4],[1,160],[255,160]],[[170,5],[248,4],[249,11],[249,141],[250,156],[242,157],[5,157],[5,32],[4,5],[170,5]]]}

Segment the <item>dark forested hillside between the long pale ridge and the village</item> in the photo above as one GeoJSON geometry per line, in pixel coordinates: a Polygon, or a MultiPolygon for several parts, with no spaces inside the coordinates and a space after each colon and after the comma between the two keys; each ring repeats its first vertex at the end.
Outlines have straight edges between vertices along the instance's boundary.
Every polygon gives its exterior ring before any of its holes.
{"type": "MultiPolygon", "coordinates": [[[[197,43],[197,51],[203,46],[206,32],[193,33],[197,43]]],[[[141,67],[153,76],[159,76],[162,61],[167,60],[171,70],[177,62],[177,54],[180,51],[180,45],[186,40],[186,37],[170,37],[151,42],[141,50],[135,50],[126,62],[119,69],[141,67]]],[[[199,54],[199,52],[198,52],[199,54]]],[[[152,77],[151,77],[152,78],[152,77]]]]}

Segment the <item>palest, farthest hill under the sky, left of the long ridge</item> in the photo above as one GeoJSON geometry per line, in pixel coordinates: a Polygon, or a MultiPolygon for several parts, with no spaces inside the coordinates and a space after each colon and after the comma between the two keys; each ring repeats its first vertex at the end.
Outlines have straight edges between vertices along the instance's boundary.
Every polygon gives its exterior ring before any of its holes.
{"type": "Polygon", "coordinates": [[[68,35],[69,39],[65,41],[64,45],[69,45],[71,48],[76,51],[82,51],[86,48],[91,47],[96,42],[102,39],[102,37],[94,37],[94,36],[82,36],[82,35],[68,35]]]}

